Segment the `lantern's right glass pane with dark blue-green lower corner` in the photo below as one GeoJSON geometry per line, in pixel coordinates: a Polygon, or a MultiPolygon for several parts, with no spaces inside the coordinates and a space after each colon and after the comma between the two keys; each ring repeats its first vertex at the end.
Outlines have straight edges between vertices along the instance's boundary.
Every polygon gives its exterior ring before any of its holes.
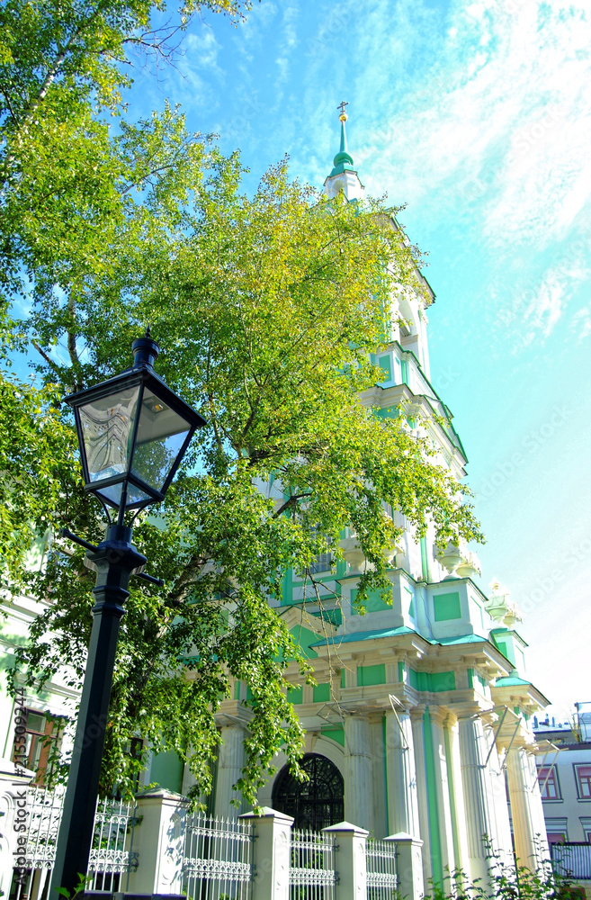
{"type": "Polygon", "coordinates": [[[144,391],[131,471],[157,491],[181,452],[190,424],[155,393],[144,391]]]}

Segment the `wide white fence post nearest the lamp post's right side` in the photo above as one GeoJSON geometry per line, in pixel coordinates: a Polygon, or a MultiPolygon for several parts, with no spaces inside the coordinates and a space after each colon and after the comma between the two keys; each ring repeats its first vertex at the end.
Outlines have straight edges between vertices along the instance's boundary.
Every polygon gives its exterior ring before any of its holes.
{"type": "Polygon", "coordinates": [[[133,894],[176,894],[182,891],[184,833],[188,800],[166,788],[136,797],[141,821],[133,834],[137,871],[121,878],[121,890],[133,894]]]}

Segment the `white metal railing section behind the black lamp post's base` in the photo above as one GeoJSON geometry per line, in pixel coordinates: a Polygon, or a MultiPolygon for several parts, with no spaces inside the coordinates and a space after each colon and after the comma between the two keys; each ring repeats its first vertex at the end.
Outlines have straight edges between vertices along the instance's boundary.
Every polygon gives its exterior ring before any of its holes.
{"type": "MultiPolygon", "coordinates": [[[[64,788],[27,789],[24,810],[27,843],[23,869],[15,869],[11,898],[39,900],[47,896],[56,858],[59,824],[64,806],[64,788]]],[[[137,864],[133,852],[136,807],[122,800],[99,800],[94,815],[94,839],[90,852],[89,890],[125,889],[125,875],[137,864]]]]}

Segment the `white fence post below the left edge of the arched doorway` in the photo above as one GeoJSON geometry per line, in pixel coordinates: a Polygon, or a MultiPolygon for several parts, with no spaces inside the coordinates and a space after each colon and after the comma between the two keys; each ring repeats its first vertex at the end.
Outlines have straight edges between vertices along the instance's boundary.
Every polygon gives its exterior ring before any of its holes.
{"type": "Polygon", "coordinates": [[[289,900],[291,815],[263,806],[261,815],[245,813],[240,819],[255,825],[252,900],[289,900]]]}

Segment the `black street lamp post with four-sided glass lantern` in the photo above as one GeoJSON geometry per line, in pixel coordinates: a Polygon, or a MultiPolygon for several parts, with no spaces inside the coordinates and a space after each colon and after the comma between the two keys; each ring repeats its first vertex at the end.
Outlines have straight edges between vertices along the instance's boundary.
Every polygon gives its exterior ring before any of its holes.
{"type": "Polygon", "coordinates": [[[109,527],[86,554],[96,570],[94,620],[49,900],[54,888],[73,894],[88,869],[123,604],[130,576],[146,564],[131,544],[125,514],[164,500],[195,430],[206,424],[155,373],[160,348],[149,330],[132,348],[130,369],[66,398],[76,417],[85,491],[101,501],[109,527]],[[108,508],[117,510],[114,521],[108,508]]]}

